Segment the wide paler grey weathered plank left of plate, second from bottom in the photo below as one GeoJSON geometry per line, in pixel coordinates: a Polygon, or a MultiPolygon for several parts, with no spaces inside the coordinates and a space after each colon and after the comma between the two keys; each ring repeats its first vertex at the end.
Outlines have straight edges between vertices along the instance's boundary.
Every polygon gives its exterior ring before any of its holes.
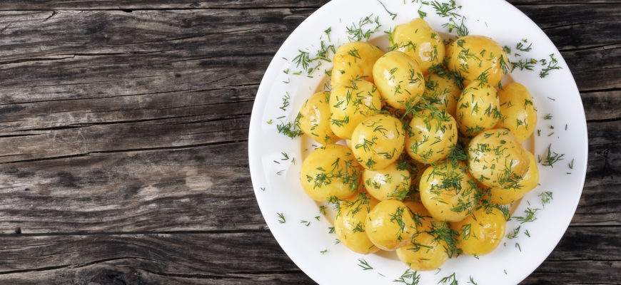
{"type": "Polygon", "coordinates": [[[0,233],[263,229],[247,142],[0,165],[0,233]]]}

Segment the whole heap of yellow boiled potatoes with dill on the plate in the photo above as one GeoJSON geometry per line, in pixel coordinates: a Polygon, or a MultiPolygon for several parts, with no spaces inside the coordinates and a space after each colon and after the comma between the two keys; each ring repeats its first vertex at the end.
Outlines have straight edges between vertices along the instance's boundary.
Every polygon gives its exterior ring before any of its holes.
{"type": "Polygon", "coordinates": [[[508,61],[491,38],[457,38],[446,57],[423,19],[388,38],[387,52],[338,47],[331,90],[302,106],[298,126],[321,144],[303,160],[303,190],[333,204],[338,242],[353,252],[395,250],[414,270],[488,254],[506,205],[539,182],[521,145],[537,123],[532,97],[519,83],[497,90],[508,61]]]}

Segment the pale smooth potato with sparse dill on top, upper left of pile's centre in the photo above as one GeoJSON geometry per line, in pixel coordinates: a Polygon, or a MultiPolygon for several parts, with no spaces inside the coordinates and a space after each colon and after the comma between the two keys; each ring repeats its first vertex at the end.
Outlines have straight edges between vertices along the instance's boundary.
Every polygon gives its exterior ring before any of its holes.
{"type": "Polygon", "coordinates": [[[389,51],[375,61],[373,80],[388,105],[405,110],[425,92],[425,78],[418,64],[405,53],[389,51]]]}

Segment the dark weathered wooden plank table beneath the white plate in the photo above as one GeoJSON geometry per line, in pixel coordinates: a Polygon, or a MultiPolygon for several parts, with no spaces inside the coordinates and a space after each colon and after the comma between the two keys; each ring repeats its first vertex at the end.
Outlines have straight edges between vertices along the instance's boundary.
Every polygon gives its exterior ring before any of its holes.
{"type": "MultiPolygon", "coordinates": [[[[248,172],[258,84],[323,1],[0,4],[1,284],[312,284],[248,172]],[[93,283],[89,283],[93,282],[93,283]]],[[[589,167],[522,284],[621,282],[621,4],[510,1],[580,88],[589,167]]]]}

